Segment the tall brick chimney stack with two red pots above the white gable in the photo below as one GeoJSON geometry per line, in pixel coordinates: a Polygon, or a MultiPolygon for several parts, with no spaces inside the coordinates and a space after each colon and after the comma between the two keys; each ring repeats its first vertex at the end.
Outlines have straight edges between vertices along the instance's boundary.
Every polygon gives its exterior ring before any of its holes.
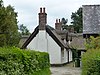
{"type": "Polygon", "coordinates": [[[45,30],[45,26],[47,24],[47,14],[45,12],[45,8],[40,8],[39,15],[39,30],[45,30]]]}

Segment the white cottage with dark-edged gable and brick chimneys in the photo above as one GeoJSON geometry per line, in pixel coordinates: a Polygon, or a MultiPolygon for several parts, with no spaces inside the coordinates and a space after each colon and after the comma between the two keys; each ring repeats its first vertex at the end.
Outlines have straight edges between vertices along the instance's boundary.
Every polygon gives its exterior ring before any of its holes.
{"type": "Polygon", "coordinates": [[[25,41],[22,48],[48,52],[52,65],[62,65],[72,61],[72,51],[66,41],[67,31],[61,31],[61,22],[56,20],[55,27],[47,25],[45,8],[40,8],[39,25],[25,41]],[[62,36],[61,36],[62,35],[62,36]],[[64,38],[63,38],[64,37],[64,38]]]}

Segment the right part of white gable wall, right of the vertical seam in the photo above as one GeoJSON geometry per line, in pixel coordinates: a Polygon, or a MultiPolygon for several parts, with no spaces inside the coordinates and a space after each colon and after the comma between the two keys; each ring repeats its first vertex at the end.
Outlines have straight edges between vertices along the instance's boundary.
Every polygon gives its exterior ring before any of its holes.
{"type": "Polygon", "coordinates": [[[62,64],[61,63],[61,47],[52,39],[47,33],[48,40],[48,53],[50,55],[51,64],[62,64]]]}

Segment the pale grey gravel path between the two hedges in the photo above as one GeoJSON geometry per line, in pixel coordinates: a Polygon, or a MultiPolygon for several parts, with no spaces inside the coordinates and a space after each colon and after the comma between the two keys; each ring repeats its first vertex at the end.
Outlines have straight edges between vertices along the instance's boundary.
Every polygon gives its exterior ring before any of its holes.
{"type": "Polygon", "coordinates": [[[81,69],[75,67],[51,67],[51,75],[81,75],[81,69]]]}

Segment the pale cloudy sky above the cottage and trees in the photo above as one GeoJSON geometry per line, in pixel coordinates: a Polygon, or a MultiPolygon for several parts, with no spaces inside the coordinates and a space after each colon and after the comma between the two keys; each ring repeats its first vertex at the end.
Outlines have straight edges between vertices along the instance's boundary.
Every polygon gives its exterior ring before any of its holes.
{"type": "Polygon", "coordinates": [[[3,0],[4,5],[11,5],[18,12],[18,24],[24,24],[30,32],[38,25],[40,7],[46,8],[47,24],[55,27],[55,20],[66,18],[71,22],[71,14],[82,5],[100,4],[100,0],[3,0]]]}

